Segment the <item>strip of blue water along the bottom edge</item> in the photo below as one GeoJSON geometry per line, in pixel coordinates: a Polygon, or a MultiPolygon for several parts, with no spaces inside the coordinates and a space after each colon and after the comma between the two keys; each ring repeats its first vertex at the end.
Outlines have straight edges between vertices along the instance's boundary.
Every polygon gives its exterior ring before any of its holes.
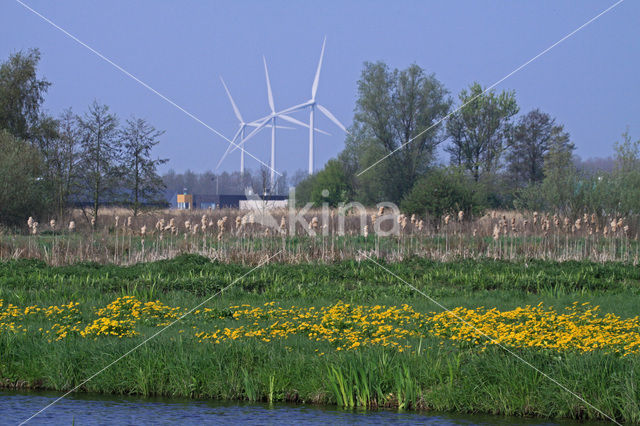
{"type": "MultiPolygon", "coordinates": [[[[0,391],[0,424],[19,424],[61,395],[55,392],[0,391]]],[[[352,411],[306,405],[224,403],[91,394],[68,396],[34,417],[28,424],[587,425],[587,423],[500,416],[397,412],[391,410],[352,411]]],[[[589,424],[603,425],[604,423],[589,424]]]]}

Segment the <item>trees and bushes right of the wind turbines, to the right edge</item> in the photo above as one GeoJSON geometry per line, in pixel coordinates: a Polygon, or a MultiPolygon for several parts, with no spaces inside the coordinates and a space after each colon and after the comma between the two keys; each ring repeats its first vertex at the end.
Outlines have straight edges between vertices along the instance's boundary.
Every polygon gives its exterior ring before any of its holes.
{"type": "Polygon", "coordinates": [[[475,82],[454,101],[418,65],[366,62],[344,150],[296,195],[300,203],[392,201],[433,216],[486,208],[640,211],[640,140],[625,133],[614,144],[611,170],[580,167],[574,150],[554,117],[538,108],[521,114],[513,91],[475,82]]]}

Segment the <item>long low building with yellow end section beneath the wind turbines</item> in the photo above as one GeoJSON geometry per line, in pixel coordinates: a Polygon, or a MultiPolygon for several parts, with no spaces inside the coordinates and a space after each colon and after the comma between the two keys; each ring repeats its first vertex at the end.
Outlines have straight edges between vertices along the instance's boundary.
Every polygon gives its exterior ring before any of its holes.
{"type": "Polygon", "coordinates": [[[246,195],[210,195],[210,194],[177,194],[176,201],[180,210],[213,210],[243,209],[255,210],[264,208],[287,207],[289,197],[286,195],[264,195],[260,199],[247,199],[246,195]]]}

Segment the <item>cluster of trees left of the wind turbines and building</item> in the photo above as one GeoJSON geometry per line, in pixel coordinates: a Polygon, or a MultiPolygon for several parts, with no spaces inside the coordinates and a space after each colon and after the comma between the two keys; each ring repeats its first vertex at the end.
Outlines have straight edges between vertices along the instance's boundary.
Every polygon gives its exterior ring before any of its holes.
{"type": "Polygon", "coordinates": [[[0,223],[62,219],[78,206],[95,226],[105,204],[137,215],[164,203],[157,167],[167,160],[151,155],[164,132],[142,118],[121,122],[97,101],[82,114],[48,115],[41,107],[51,83],[38,77],[39,60],[31,49],[0,65],[0,223]]]}

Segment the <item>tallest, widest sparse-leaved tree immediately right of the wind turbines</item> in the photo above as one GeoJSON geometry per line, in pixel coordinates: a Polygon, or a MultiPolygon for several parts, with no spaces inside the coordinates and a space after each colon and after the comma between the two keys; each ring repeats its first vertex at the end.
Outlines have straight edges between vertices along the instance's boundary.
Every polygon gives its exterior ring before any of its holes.
{"type": "Polygon", "coordinates": [[[417,65],[389,70],[382,62],[365,62],[358,81],[358,100],[349,149],[357,168],[384,161],[358,181],[375,187],[366,201],[399,201],[432,164],[437,145],[444,140],[438,123],[449,111],[448,91],[417,65]]]}

